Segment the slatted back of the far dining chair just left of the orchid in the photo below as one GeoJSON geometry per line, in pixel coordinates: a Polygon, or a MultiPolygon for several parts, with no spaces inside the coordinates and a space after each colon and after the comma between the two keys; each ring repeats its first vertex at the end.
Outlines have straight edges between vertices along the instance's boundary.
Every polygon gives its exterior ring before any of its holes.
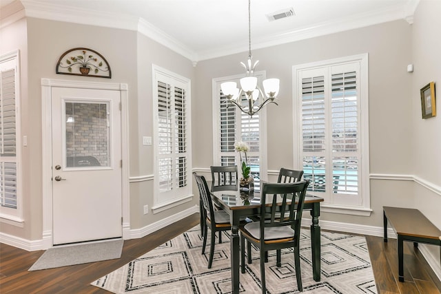
{"type": "Polygon", "coordinates": [[[237,165],[211,166],[212,191],[236,191],[238,185],[237,165]]]}

